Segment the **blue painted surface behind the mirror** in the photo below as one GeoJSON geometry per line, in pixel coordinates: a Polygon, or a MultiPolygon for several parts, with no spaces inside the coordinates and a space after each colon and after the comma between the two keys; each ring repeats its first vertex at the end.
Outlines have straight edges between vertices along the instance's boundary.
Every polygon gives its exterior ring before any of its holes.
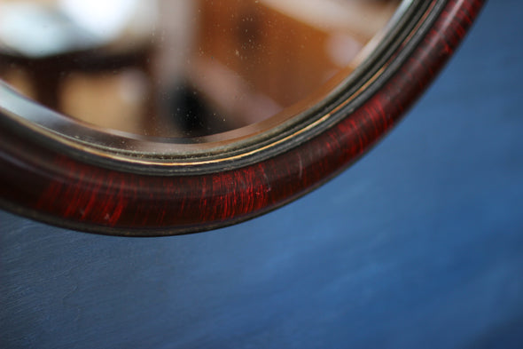
{"type": "Polygon", "coordinates": [[[125,239],[0,212],[0,347],[523,347],[522,9],[491,1],[379,147],[262,218],[125,239]]]}

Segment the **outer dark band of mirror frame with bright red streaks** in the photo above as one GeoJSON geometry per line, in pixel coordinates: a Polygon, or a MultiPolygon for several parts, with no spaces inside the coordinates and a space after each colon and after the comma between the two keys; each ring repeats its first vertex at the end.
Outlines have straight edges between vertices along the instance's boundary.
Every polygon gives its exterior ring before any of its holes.
{"type": "Polygon", "coordinates": [[[183,234],[253,218],[305,194],[368,150],[418,99],[484,1],[452,0],[402,67],[340,123],[262,163],[147,176],[84,163],[0,129],[0,198],[16,213],[103,234],[183,234]]]}

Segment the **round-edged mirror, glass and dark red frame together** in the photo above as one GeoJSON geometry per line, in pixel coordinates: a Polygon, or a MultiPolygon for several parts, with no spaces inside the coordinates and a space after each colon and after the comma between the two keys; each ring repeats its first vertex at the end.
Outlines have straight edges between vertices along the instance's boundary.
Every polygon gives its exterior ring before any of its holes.
{"type": "Polygon", "coordinates": [[[185,234],[321,185],[433,80],[480,0],[0,1],[0,205],[185,234]]]}

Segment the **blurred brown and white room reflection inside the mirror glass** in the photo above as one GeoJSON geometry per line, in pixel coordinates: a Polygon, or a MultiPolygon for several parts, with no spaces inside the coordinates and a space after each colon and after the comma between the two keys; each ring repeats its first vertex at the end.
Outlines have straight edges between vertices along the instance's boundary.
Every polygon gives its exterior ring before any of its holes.
{"type": "Polygon", "coordinates": [[[313,106],[400,3],[0,0],[0,78],[106,129],[214,135],[313,106]]]}

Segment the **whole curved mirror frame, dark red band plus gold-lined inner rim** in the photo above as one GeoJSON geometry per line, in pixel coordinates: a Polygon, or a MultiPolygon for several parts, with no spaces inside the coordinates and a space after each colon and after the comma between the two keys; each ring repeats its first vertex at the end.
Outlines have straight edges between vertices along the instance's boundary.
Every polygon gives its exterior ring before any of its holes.
{"type": "Polygon", "coordinates": [[[455,52],[483,3],[415,2],[358,81],[307,118],[199,154],[141,161],[141,154],[74,143],[6,107],[11,92],[2,86],[0,207],[56,226],[126,236],[194,233],[274,210],[346,169],[383,137],[455,52]]]}

